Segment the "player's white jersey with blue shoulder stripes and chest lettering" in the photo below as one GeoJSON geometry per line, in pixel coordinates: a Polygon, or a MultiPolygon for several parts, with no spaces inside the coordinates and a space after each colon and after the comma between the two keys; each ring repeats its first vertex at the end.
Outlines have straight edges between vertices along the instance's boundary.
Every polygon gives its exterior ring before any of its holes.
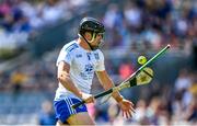
{"type": "MultiPolygon", "coordinates": [[[[100,49],[85,50],[77,41],[72,41],[62,47],[56,66],[60,61],[70,65],[70,78],[72,82],[79,90],[85,93],[91,92],[94,71],[105,70],[103,53],[100,49]]],[[[59,82],[55,101],[62,100],[66,96],[77,98],[59,82]]]]}

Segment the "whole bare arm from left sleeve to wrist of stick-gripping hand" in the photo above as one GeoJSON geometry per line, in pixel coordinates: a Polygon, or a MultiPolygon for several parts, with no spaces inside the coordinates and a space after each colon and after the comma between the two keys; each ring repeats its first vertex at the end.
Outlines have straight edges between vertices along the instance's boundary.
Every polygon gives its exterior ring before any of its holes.
{"type": "Polygon", "coordinates": [[[77,96],[82,98],[82,92],[74,85],[72,82],[70,75],[70,66],[65,61],[60,61],[58,65],[58,73],[57,78],[59,82],[69,91],[74,93],[77,96]]]}

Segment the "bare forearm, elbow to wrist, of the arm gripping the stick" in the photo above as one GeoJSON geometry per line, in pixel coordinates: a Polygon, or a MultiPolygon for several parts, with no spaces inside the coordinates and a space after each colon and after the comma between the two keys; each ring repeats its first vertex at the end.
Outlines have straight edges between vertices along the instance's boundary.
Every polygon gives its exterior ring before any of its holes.
{"type": "Polygon", "coordinates": [[[69,90],[77,96],[82,98],[81,91],[74,85],[74,83],[69,77],[58,78],[58,80],[67,90],[69,90]]]}

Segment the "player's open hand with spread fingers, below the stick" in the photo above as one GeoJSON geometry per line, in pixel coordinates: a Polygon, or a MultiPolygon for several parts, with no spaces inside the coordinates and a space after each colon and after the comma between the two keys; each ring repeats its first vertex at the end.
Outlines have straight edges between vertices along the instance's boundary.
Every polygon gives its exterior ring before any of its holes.
{"type": "Polygon", "coordinates": [[[132,113],[135,113],[134,104],[132,102],[123,99],[123,101],[118,102],[119,107],[123,111],[123,116],[126,118],[132,117],[132,113]]]}

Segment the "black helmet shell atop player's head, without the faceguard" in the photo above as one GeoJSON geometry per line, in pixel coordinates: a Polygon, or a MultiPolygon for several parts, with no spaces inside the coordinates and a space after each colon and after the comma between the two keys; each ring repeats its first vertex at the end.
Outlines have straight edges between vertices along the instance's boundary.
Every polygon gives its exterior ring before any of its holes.
{"type": "Polygon", "coordinates": [[[104,25],[93,18],[83,18],[80,22],[79,34],[83,34],[84,32],[93,32],[93,33],[104,33],[104,25]]]}

